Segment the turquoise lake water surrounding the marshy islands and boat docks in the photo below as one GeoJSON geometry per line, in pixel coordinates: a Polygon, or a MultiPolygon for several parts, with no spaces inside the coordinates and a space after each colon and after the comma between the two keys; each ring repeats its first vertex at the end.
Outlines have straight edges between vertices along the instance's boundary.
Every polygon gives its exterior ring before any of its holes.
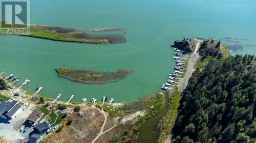
{"type": "MultiPolygon", "coordinates": [[[[175,40],[194,37],[232,38],[223,43],[240,44],[236,53],[256,54],[256,1],[30,1],[30,23],[81,30],[125,28],[125,44],[92,45],[57,42],[20,36],[0,37],[0,70],[20,80],[30,79],[24,89],[38,85],[46,97],[73,101],[98,100],[104,95],[116,102],[132,101],[160,91],[167,74],[174,71],[175,40]],[[131,69],[123,80],[84,84],[60,78],[56,67],[95,71],[131,69]]],[[[232,53],[234,54],[234,53],[232,53]]],[[[20,84],[20,82],[18,83],[20,84]]]]}

